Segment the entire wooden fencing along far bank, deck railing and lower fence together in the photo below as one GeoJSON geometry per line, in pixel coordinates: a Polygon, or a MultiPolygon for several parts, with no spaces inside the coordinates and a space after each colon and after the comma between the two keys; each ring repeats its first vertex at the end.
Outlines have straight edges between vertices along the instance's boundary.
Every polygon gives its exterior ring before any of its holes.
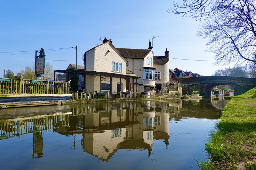
{"type": "MultiPolygon", "coordinates": [[[[150,92],[150,97],[169,93],[168,87],[150,92]]],[[[147,98],[147,92],[69,92],[69,82],[0,78],[0,97],[3,95],[72,94],[71,100],[147,98]]]]}

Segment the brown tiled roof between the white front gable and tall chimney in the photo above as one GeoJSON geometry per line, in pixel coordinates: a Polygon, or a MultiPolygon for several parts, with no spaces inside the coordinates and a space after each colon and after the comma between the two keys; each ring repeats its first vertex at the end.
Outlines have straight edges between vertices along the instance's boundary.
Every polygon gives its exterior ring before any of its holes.
{"type": "Polygon", "coordinates": [[[152,50],[147,49],[130,49],[130,48],[116,48],[124,58],[144,59],[152,50]]]}

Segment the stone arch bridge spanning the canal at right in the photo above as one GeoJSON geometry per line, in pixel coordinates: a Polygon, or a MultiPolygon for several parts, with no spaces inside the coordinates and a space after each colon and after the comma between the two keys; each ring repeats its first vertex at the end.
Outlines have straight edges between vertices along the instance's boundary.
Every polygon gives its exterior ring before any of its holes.
{"type": "MultiPolygon", "coordinates": [[[[171,79],[170,79],[171,80],[171,79]]],[[[200,96],[211,97],[212,89],[218,85],[229,85],[235,90],[235,95],[256,87],[256,78],[232,77],[232,76],[202,76],[178,78],[183,94],[191,94],[192,91],[200,91],[200,96]]]]}

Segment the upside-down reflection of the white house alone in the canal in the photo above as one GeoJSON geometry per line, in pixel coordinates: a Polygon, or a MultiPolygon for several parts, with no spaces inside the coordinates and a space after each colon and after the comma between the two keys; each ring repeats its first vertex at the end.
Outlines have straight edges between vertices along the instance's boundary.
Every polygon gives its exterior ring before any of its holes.
{"type": "Polygon", "coordinates": [[[168,113],[156,113],[154,110],[143,111],[143,109],[145,110],[145,108],[134,108],[133,110],[114,110],[84,115],[86,122],[82,122],[85,127],[100,126],[102,129],[100,133],[83,133],[84,152],[108,161],[118,149],[146,149],[150,156],[153,139],[164,139],[165,144],[168,145],[168,113]],[[93,125],[89,122],[93,122],[93,125]],[[117,126],[122,122],[126,123],[126,127],[117,126]],[[127,125],[128,122],[130,125],[127,125]],[[87,123],[90,125],[87,126],[87,123]],[[110,125],[114,129],[104,130],[109,129],[110,125]]]}

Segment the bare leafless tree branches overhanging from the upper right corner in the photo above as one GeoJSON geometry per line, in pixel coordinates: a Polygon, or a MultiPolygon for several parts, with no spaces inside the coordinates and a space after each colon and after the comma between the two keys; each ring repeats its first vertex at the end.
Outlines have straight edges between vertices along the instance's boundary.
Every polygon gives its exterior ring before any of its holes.
{"type": "Polygon", "coordinates": [[[209,38],[207,45],[215,64],[255,65],[256,1],[184,0],[181,5],[174,3],[168,12],[202,22],[198,35],[209,38]]]}

